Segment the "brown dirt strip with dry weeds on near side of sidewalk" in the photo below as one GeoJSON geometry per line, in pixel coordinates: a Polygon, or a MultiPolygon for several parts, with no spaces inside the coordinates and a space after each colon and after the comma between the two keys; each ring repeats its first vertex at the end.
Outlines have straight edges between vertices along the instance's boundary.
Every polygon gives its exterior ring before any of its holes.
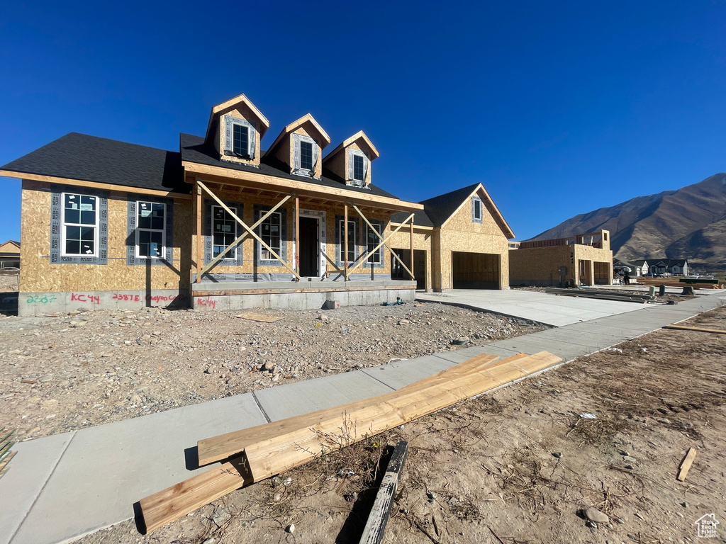
{"type": "MultiPolygon", "coordinates": [[[[726,329],[726,308],[688,324],[726,329]]],[[[150,535],[129,521],[81,542],[357,542],[399,440],[409,458],[386,543],[701,542],[701,516],[726,524],[724,353],[726,335],[661,329],[237,490],[150,535]],[[696,461],[678,482],[691,447],[696,461]],[[607,521],[587,522],[590,507],[607,521]]]]}

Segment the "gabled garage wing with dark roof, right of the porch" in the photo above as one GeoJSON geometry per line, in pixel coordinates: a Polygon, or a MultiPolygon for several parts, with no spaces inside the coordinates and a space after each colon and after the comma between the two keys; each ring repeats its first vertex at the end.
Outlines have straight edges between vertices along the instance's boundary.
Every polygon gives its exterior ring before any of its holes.
{"type": "MultiPolygon", "coordinates": [[[[419,289],[507,289],[509,239],[514,233],[482,184],[473,184],[420,202],[413,223],[414,273],[419,289]]],[[[407,213],[391,217],[401,226],[407,213]]],[[[409,232],[398,231],[391,243],[406,265],[409,232]],[[398,249],[396,249],[398,248],[398,249]]],[[[396,265],[399,263],[396,262],[396,265]]],[[[393,277],[406,273],[393,266],[393,277]]]]}

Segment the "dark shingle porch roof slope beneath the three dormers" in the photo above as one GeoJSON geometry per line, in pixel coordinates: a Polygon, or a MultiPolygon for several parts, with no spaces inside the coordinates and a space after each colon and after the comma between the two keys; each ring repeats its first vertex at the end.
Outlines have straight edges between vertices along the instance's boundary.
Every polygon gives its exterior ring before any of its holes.
{"type": "Polygon", "coordinates": [[[227,162],[219,160],[216,149],[205,144],[205,141],[200,136],[193,136],[192,134],[180,134],[179,135],[179,147],[181,149],[181,160],[186,162],[195,162],[200,165],[218,166],[219,168],[228,168],[229,170],[241,170],[242,172],[254,172],[263,174],[265,176],[275,176],[277,178],[293,179],[295,181],[303,181],[304,183],[331,187],[334,189],[348,189],[349,191],[361,192],[364,194],[373,194],[377,197],[388,197],[398,198],[388,191],[384,191],[376,185],[369,185],[366,189],[362,187],[346,186],[343,181],[334,176],[330,171],[323,170],[323,176],[321,179],[303,178],[302,176],[295,176],[284,169],[287,168],[282,162],[275,160],[273,157],[262,157],[262,162],[259,168],[255,166],[248,166],[237,164],[234,162],[227,162]]]}

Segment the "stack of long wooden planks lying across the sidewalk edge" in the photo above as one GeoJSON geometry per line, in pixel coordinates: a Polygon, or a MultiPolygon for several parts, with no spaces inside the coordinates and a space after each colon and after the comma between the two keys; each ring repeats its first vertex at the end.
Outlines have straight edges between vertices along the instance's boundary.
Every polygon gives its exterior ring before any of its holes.
{"type": "Polygon", "coordinates": [[[139,501],[147,532],[240,487],[561,361],[547,352],[497,359],[485,353],[385,395],[200,440],[200,466],[224,462],[139,501]]]}

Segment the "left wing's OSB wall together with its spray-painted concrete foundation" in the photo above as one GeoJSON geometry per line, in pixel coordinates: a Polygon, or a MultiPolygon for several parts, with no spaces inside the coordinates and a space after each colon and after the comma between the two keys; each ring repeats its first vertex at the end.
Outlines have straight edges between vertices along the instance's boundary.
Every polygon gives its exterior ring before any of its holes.
{"type": "MultiPolygon", "coordinates": [[[[73,191],[87,192],[81,187],[73,191]]],[[[126,226],[129,198],[145,200],[150,197],[132,191],[107,191],[103,196],[107,198],[106,264],[52,264],[51,184],[23,180],[20,251],[24,263],[20,271],[19,299],[22,315],[56,311],[58,305],[65,309],[63,301],[66,299],[78,302],[77,307],[90,305],[95,308],[102,305],[100,293],[113,305],[124,302],[144,305],[145,299],[152,296],[151,292],[157,292],[153,295],[157,300],[166,297],[167,302],[174,300],[169,297],[174,297],[175,293],[181,293],[188,302],[190,247],[184,241],[188,241],[191,234],[191,200],[173,200],[173,261],[169,265],[147,267],[126,265],[126,226]],[[113,294],[117,294],[115,299],[113,294]]]]}

